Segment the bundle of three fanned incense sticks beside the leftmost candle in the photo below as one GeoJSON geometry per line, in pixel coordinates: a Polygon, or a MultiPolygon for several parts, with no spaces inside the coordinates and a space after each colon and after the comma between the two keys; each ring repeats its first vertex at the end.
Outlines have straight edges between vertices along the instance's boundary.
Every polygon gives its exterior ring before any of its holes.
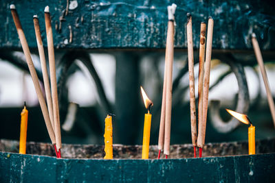
{"type": "Polygon", "coordinates": [[[17,14],[17,10],[15,8],[15,5],[10,5],[10,10],[12,12],[12,18],[14,20],[14,24],[17,27],[17,33],[19,35],[19,40],[21,42],[23,52],[25,54],[25,58],[28,63],[29,71],[32,76],[32,81],[34,83],[36,95],[39,99],[39,104],[41,106],[41,110],[42,110],[45,124],[47,127],[47,132],[49,133],[52,144],[54,145],[54,149],[56,150],[56,156],[58,158],[61,158],[61,128],[60,128],[60,121],[59,121],[58,94],[57,94],[57,85],[56,85],[54,42],[53,42],[53,36],[52,36],[52,25],[51,25],[49,7],[46,6],[45,8],[45,25],[46,25],[46,33],[47,33],[48,57],[50,62],[50,80],[51,80],[51,86],[52,86],[51,88],[50,88],[50,82],[48,80],[47,65],[45,61],[45,53],[43,49],[43,42],[41,38],[38,16],[34,15],[34,20],[33,20],[35,34],[36,34],[36,42],[37,42],[37,47],[39,49],[39,57],[41,60],[41,68],[43,72],[43,82],[45,86],[47,105],[43,97],[41,86],[39,84],[39,79],[37,77],[36,70],[32,62],[32,57],[31,57],[30,49],[28,47],[28,42],[25,38],[25,34],[21,27],[21,23],[19,20],[19,16],[17,14]],[[52,89],[52,95],[50,92],[51,89],[52,89]]]}

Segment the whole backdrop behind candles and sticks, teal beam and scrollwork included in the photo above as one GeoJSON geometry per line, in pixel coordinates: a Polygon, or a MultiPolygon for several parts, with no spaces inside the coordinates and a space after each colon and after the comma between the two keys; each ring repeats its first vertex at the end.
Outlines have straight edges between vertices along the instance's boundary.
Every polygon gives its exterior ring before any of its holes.
{"type": "MultiPolygon", "coordinates": [[[[9,10],[0,1],[0,138],[19,140],[24,101],[27,141],[50,142],[9,10]]],[[[265,86],[250,41],[255,32],[275,96],[275,12],[270,1],[19,1],[17,11],[43,86],[33,14],[47,45],[43,10],[50,5],[63,143],[104,144],[104,118],[113,118],[113,143],[141,145],[143,86],[153,101],[151,144],[157,145],[164,78],[167,9],[177,3],[171,144],[191,143],[186,18],[192,14],[197,93],[199,26],[214,19],[206,143],[247,141],[248,126],[225,108],[248,114],[256,139],[275,136],[265,86]],[[28,10],[28,11],[25,11],[28,10]],[[184,15],[184,19],[183,19],[184,15]]],[[[47,47],[45,47],[47,57],[47,47]]],[[[47,58],[46,58],[47,60],[47,58]]],[[[48,63],[47,63],[48,64],[48,63]]],[[[45,95],[45,91],[44,95],[45,95]]],[[[197,94],[196,94],[197,97],[197,94]]]]}

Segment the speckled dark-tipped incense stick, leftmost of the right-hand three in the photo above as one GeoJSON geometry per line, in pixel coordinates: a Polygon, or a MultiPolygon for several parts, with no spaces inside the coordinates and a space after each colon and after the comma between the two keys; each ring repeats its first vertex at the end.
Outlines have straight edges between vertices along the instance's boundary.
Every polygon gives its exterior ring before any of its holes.
{"type": "MultiPolygon", "coordinates": [[[[190,90],[190,121],[192,145],[194,147],[194,156],[197,146],[197,123],[196,123],[196,98],[195,98],[195,79],[194,79],[194,54],[192,40],[192,16],[187,14],[187,45],[188,45],[188,70],[189,70],[189,90],[190,90]]],[[[196,156],[195,156],[196,157],[196,156]]]]}

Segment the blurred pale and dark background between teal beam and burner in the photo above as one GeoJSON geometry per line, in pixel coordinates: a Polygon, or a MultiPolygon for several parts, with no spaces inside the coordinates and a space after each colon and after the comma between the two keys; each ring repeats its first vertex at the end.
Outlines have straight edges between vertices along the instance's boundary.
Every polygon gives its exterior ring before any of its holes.
{"type": "MultiPolygon", "coordinates": [[[[13,54],[22,60],[25,59],[20,51],[13,54]]],[[[153,114],[151,144],[157,144],[164,75],[164,51],[155,53],[140,51],[139,54],[142,55],[142,59],[139,61],[132,60],[133,65],[127,59],[115,60],[115,56],[111,54],[89,54],[91,63],[94,65],[96,73],[98,73],[108,105],[102,103],[98,86],[96,86],[96,82],[94,82],[87,67],[80,60],[76,60],[70,66],[69,75],[63,88],[65,92],[58,93],[59,97],[63,95],[60,104],[63,143],[103,144],[104,117],[108,113],[113,113],[116,115],[113,119],[114,143],[142,144],[146,109],[140,95],[139,86],[143,86],[148,97],[154,103],[151,111],[153,114]],[[71,115],[68,115],[68,113],[71,115]]],[[[244,55],[249,58],[248,60],[251,59],[250,62],[247,61],[250,64],[244,66],[244,74],[248,82],[250,96],[248,116],[256,126],[256,138],[274,137],[274,125],[267,103],[265,87],[259,67],[254,59],[254,53],[245,53],[244,55]]],[[[195,52],[196,56],[197,51],[195,52]]],[[[133,56],[129,55],[129,58],[135,57],[135,53],[133,53],[133,56]]],[[[32,58],[34,64],[39,66],[39,57],[33,54],[32,58]]],[[[120,58],[120,56],[117,58],[120,58]]],[[[186,59],[186,51],[176,51],[173,63],[172,144],[191,142],[189,81],[188,72],[186,72],[188,62],[186,59]]],[[[274,96],[275,84],[272,81],[275,80],[275,64],[273,60],[270,61],[265,63],[265,67],[270,80],[272,95],[274,96]]],[[[195,62],[197,62],[197,59],[195,59],[195,62]]],[[[24,101],[26,101],[29,110],[28,141],[49,142],[50,138],[47,135],[29,73],[5,60],[0,60],[0,75],[0,138],[19,139],[20,112],[24,101]]],[[[196,91],[197,76],[198,64],[195,64],[196,91]]],[[[42,82],[41,86],[43,86],[42,82]]],[[[225,112],[225,108],[232,110],[236,108],[238,93],[239,86],[236,75],[232,73],[230,66],[213,58],[209,101],[221,101],[221,108],[218,110],[221,113],[221,119],[225,122],[231,119],[230,115],[225,112]]],[[[207,143],[245,141],[247,139],[247,125],[240,123],[238,127],[234,127],[228,132],[219,132],[219,127],[215,127],[215,121],[210,117],[211,112],[212,108],[209,108],[206,128],[207,143]]]]}

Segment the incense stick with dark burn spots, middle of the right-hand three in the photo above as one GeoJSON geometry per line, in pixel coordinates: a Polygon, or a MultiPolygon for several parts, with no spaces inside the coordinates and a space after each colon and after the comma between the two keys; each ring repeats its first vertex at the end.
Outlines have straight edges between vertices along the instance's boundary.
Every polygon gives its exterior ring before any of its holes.
{"type": "Polygon", "coordinates": [[[203,72],[204,72],[204,57],[206,53],[206,23],[201,23],[201,36],[199,40],[199,103],[198,103],[198,123],[203,123],[203,72]]]}

